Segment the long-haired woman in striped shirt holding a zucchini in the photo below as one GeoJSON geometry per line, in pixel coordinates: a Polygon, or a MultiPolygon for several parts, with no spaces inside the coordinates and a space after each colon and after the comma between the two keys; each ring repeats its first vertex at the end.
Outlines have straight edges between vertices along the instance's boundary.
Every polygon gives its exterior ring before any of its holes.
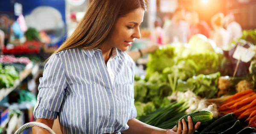
{"type": "MultiPolygon", "coordinates": [[[[134,62],[124,51],[140,38],[144,0],[93,0],[78,28],[47,62],[34,115],[64,134],[175,134],[135,119],[134,62]]],[[[192,134],[183,121],[177,134],[192,134]]],[[[44,134],[34,127],[34,134],[44,134]]]]}

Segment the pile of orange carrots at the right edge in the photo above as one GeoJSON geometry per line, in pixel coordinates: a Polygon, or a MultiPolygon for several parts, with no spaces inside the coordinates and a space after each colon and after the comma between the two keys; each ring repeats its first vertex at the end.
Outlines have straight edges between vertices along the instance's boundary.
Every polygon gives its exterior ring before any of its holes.
{"type": "Polygon", "coordinates": [[[220,114],[233,112],[237,119],[244,119],[248,127],[256,128],[256,93],[252,89],[236,93],[218,106],[220,114]]]}

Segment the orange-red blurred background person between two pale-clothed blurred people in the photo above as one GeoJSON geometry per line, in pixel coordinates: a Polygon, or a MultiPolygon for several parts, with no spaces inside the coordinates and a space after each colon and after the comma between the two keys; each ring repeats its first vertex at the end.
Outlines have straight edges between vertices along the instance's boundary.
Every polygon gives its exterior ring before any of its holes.
{"type": "Polygon", "coordinates": [[[186,21],[189,23],[190,27],[189,39],[197,33],[203,34],[207,38],[210,37],[210,28],[207,22],[199,20],[198,13],[196,11],[187,12],[186,21]]]}

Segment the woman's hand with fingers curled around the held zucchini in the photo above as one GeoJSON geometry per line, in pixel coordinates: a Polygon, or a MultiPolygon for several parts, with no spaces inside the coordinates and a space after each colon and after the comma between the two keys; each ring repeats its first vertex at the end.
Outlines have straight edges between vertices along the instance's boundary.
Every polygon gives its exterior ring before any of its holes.
{"type": "Polygon", "coordinates": [[[181,122],[179,122],[178,128],[175,126],[171,130],[169,130],[166,134],[193,134],[199,128],[201,123],[198,122],[195,124],[195,127],[193,127],[193,122],[190,116],[188,116],[188,121],[189,121],[189,127],[187,127],[186,121],[182,119],[183,126],[181,126],[181,122]],[[181,127],[183,127],[183,130],[181,127]]]}

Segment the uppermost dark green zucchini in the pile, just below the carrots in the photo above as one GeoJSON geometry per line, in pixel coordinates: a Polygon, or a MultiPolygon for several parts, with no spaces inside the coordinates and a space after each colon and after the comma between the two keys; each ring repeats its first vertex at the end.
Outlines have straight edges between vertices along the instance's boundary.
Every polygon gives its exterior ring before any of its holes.
{"type": "Polygon", "coordinates": [[[209,132],[213,128],[218,126],[219,124],[227,122],[227,121],[230,121],[230,120],[233,120],[234,118],[235,118],[235,114],[234,113],[226,114],[226,115],[220,117],[218,120],[215,120],[215,122],[213,122],[212,124],[210,124],[206,128],[204,128],[204,130],[202,132],[209,132]]]}

